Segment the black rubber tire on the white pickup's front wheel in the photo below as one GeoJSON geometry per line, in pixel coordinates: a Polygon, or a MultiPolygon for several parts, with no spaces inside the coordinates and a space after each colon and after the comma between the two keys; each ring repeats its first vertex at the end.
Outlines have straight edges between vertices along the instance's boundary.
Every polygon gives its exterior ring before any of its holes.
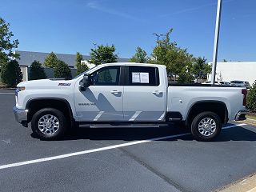
{"type": "MultiPolygon", "coordinates": [[[[55,122],[57,121],[55,120],[55,122]]],[[[50,124],[50,123],[49,123],[50,124]]],[[[40,126],[42,128],[42,126],[40,126]]],[[[52,126],[51,126],[52,127],[52,126]]],[[[37,134],[39,138],[41,138],[42,140],[57,140],[59,138],[61,138],[67,130],[68,127],[68,122],[66,121],[65,115],[60,111],[60,110],[56,110],[54,108],[44,108],[42,110],[38,110],[34,115],[33,118],[31,120],[31,128],[34,132],[34,134],[37,134]],[[49,116],[45,116],[49,114],[49,116]],[[52,117],[54,116],[55,118],[57,118],[58,120],[58,129],[56,130],[47,130],[46,133],[44,134],[38,126],[38,121],[40,119],[42,119],[42,117],[52,117]]]]}

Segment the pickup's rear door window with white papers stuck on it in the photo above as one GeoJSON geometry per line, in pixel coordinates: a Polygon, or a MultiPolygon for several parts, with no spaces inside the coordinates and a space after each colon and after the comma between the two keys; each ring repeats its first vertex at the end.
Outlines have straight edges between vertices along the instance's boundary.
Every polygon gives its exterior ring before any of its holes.
{"type": "Polygon", "coordinates": [[[157,67],[129,66],[129,86],[159,86],[157,67]]]}

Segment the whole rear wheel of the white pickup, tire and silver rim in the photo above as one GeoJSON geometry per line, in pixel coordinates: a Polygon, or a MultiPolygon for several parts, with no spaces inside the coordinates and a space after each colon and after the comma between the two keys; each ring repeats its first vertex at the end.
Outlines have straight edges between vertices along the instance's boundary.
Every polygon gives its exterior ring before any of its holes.
{"type": "Polygon", "coordinates": [[[191,133],[198,141],[209,142],[220,134],[222,122],[218,114],[210,111],[198,114],[191,123],[191,133]]]}

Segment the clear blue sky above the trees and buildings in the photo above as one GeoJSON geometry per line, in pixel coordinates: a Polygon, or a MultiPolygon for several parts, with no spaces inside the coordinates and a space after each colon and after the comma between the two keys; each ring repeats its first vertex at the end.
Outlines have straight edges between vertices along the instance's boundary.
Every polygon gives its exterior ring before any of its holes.
{"type": "MultiPolygon", "coordinates": [[[[0,0],[18,50],[89,54],[93,43],[114,44],[130,58],[148,54],[152,33],[166,33],[194,56],[212,60],[217,0],[0,0]]],[[[223,0],[218,61],[256,61],[256,1],[223,0]]]]}

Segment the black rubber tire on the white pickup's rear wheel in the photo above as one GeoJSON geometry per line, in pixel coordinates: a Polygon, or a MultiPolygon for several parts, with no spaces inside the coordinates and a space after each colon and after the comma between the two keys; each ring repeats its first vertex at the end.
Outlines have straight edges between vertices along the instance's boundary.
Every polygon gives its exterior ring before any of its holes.
{"type": "MultiPolygon", "coordinates": [[[[213,123],[214,123],[213,122],[213,123]]],[[[202,125],[202,122],[200,123],[202,125]]],[[[219,118],[218,114],[215,114],[214,112],[206,111],[202,112],[201,114],[198,114],[192,121],[191,123],[191,133],[194,136],[194,138],[200,142],[210,142],[214,140],[220,134],[222,130],[222,121],[219,118]],[[213,130],[202,130],[200,129],[199,131],[199,123],[203,121],[203,119],[210,118],[213,119],[216,125],[216,129],[213,130]],[[206,135],[207,131],[209,132],[210,135],[206,135]],[[211,133],[212,132],[212,133],[211,133]]]]}

